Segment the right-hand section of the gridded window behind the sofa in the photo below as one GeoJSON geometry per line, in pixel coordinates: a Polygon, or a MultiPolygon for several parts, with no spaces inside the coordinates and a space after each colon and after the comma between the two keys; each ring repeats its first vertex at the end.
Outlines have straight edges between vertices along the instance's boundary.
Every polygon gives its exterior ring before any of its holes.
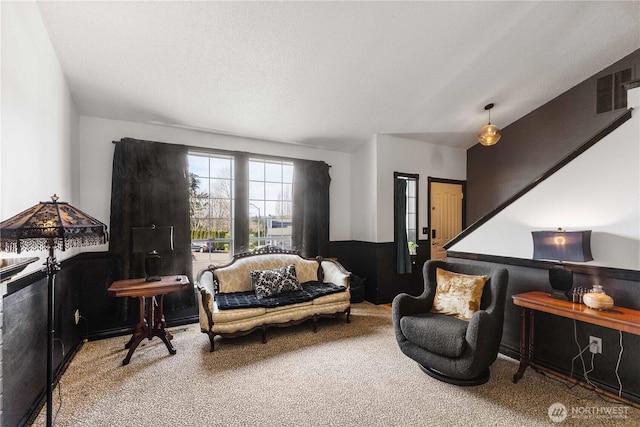
{"type": "Polygon", "coordinates": [[[249,159],[249,249],[291,248],[293,163],[249,159]]]}

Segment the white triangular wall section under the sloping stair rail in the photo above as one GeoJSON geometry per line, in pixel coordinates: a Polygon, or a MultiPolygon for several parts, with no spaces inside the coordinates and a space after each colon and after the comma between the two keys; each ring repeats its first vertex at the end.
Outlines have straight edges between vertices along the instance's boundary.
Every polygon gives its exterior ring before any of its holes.
{"type": "Polygon", "coordinates": [[[588,265],[640,269],[640,88],[632,118],[450,250],[531,259],[532,230],[593,230],[588,265]]]}

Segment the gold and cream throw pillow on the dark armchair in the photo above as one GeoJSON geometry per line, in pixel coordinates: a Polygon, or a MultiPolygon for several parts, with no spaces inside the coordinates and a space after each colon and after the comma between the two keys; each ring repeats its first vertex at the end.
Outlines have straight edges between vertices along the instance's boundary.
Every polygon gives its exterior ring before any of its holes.
{"type": "Polygon", "coordinates": [[[480,309],[482,289],[487,276],[471,276],[436,269],[436,295],[432,313],[442,313],[469,320],[480,309]]]}

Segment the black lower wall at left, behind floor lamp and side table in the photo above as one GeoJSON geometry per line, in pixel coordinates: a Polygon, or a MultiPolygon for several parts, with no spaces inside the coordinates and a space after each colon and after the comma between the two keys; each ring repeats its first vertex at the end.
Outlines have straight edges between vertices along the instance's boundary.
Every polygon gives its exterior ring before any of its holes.
{"type": "MultiPolygon", "coordinates": [[[[112,298],[109,258],[104,252],[83,253],[61,263],[55,283],[54,366],[58,374],[90,340],[133,333],[138,321],[135,298],[112,298]],[[74,312],[79,309],[76,325],[74,312]],[[64,349],[64,354],[63,354],[64,349]]],[[[195,293],[168,294],[164,313],[169,326],[198,321],[195,293]],[[190,301],[185,303],[184,301],[190,301]]],[[[3,296],[4,426],[27,425],[44,403],[47,349],[47,278],[32,273],[8,283],[3,296]]],[[[122,357],[126,351],[123,348],[122,357]]],[[[135,354],[132,363],[135,360],[135,354]]]]}

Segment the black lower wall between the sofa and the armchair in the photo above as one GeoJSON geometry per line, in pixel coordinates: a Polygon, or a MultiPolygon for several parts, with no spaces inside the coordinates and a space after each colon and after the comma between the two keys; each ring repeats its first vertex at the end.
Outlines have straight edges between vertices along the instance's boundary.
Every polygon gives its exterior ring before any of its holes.
{"type": "Polygon", "coordinates": [[[429,242],[418,241],[418,245],[418,254],[413,258],[413,271],[410,274],[396,273],[396,249],[393,242],[331,242],[331,256],[338,258],[340,264],[352,274],[366,278],[367,301],[386,304],[399,293],[422,293],[422,265],[428,257],[429,242]]]}

